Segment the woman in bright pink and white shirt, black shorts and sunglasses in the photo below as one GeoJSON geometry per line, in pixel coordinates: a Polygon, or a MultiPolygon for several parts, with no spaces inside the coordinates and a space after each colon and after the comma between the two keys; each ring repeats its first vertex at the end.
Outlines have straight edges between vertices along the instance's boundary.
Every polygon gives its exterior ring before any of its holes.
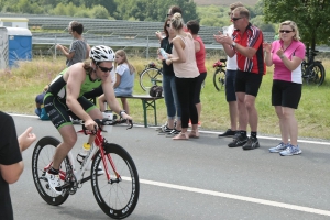
{"type": "Polygon", "coordinates": [[[282,156],[301,154],[298,146],[298,123],[295,110],[301,97],[301,62],[305,58],[305,45],[299,41],[298,26],[293,21],[279,25],[279,40],[264,43],[265,63],[274,64],[272,105],[279,119],[282,142],[270,148],[271,153],[282,156]],[[290,139],[290,143],[289,143],[290,139]]]}

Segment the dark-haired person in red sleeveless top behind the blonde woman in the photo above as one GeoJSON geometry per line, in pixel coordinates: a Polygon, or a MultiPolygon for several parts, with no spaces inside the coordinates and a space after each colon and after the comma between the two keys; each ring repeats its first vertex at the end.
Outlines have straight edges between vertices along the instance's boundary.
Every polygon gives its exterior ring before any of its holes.
{"type": "Polygon", "coordinates": [[[197,78],[197,84],[195,88],[195,105],[198,112],[198,125],[200,125],[200,111],[201,111],[201,103],[200,103],[200,90],[201,84],[204,82],[207,76],[207,68],[205,66],[205,57],[206,57],[206,50],[202,40],[198,35],[199,32],[199,23],[198,21],[188,21],[187,22],[187,31],[193,35],[194,44],[195,44],[195,52],[196,52],[196,63],[197,68],[199,70],[199,76],[197,78]]]}

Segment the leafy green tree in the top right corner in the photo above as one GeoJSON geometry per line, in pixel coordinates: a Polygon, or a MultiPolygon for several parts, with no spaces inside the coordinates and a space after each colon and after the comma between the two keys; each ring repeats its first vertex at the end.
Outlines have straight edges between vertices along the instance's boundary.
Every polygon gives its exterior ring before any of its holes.
{"type": "Polygon", "coordinates": [[[316,44],[329,44],[329,0],[263,0],[266,22],[297,23],[301,41],[315,50],[316,44]]]}

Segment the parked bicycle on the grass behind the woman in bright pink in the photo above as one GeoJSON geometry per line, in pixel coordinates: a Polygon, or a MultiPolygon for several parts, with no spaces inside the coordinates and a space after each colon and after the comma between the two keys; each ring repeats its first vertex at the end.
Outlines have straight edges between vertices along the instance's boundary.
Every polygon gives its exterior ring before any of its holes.
{"type": "MultiPolygon", "coordinates": [[[[308,50],[309,51],[309,50],[308,50]]],[[[310,51],[306,53],[307,61],[301,63],[302,82],[307,85],[321,86],[326,78],[326,69],[321,61],[315,61],[315,56],[319,51],[310,51]]]]}

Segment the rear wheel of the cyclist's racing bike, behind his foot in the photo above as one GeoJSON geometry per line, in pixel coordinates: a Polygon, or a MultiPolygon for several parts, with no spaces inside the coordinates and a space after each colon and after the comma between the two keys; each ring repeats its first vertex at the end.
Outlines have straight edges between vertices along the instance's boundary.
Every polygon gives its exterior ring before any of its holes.
{"type": "MultiPolygon", "coordinates": [[[[69,196],[68,194],[56,195],[51,189],[45,176],[47,172],[46,167],[48,167],[52,162],[56,146],[59,143],[61,142],[53,136],[44,136],[35,144],[32,154],[32,176],[36,190],[47,204],[53,206],[62,205],[69,196]]],[[[65,157],[61,164],[59,172],[66,173],[67,167],[70,167],[70,163],[68,157],[65,157]]],[[[63,180],[62,184],[64,184],[63,180]]]]}

